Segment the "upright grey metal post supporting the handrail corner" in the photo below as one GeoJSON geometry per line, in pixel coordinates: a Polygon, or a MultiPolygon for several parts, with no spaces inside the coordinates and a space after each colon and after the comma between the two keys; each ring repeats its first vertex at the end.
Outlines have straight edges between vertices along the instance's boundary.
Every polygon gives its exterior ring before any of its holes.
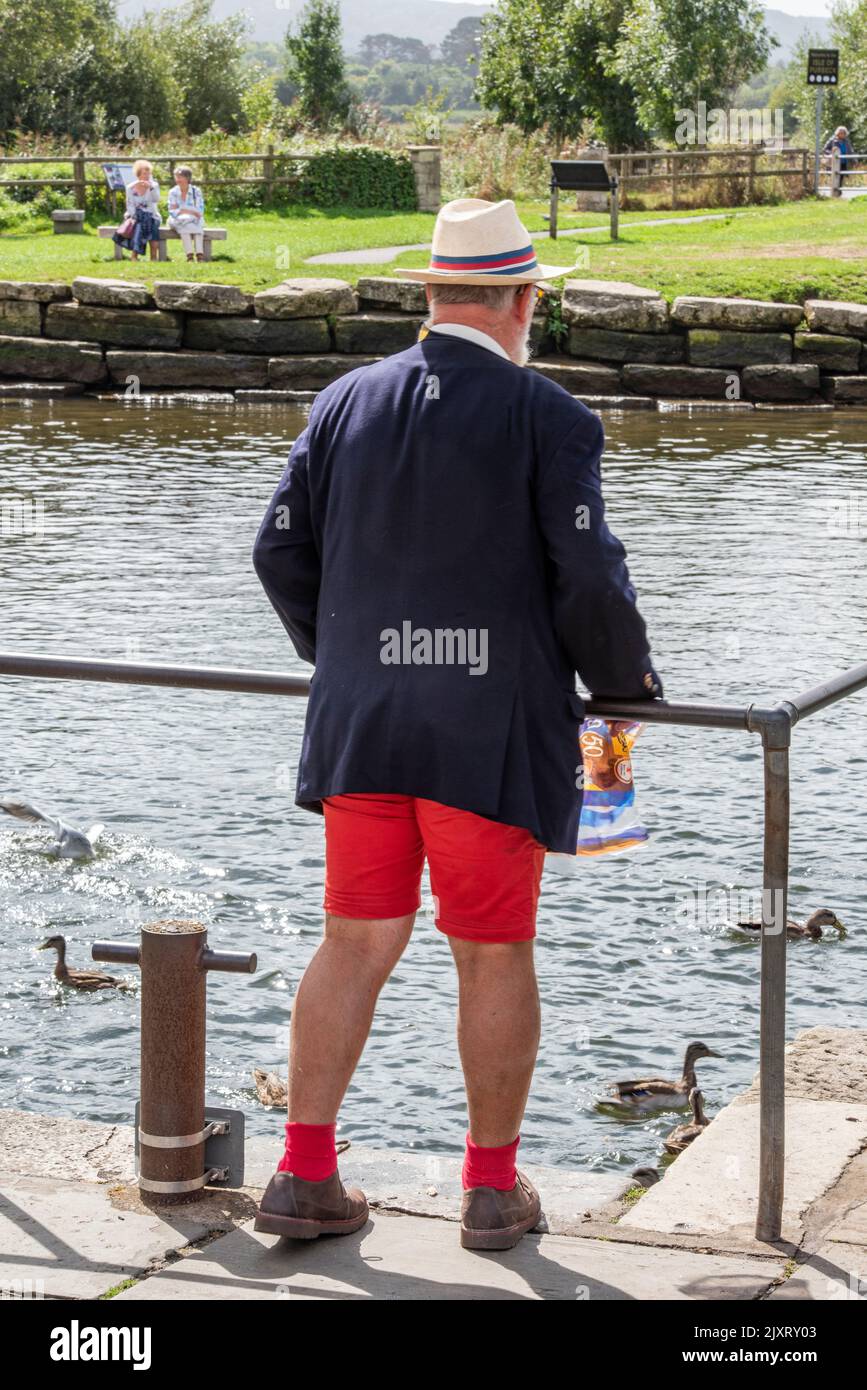
{"type": "Polygon", "coordinates": [[[785,1176],[785,983],[789,881],[789,744],[795,712],[754,712],[764,763],[761,1005],[759,1052],[759,1209],[756,1238],[782,1230],[785,1176]]]}

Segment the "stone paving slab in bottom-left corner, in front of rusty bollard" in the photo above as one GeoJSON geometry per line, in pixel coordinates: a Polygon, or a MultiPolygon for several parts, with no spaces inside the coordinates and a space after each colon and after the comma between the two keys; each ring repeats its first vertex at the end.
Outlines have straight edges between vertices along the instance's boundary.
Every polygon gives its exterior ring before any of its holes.
{"type": "Polygon", "coordinates": [[[0,1289],[33,1279],[46,1298],[97,1298],[203,1240],[215,1225],[218,1219],[211,1223],[181,1207],[156,1213],[138,1201],[115,1202],[104,1183],[4,1172],[0,1289]]]}

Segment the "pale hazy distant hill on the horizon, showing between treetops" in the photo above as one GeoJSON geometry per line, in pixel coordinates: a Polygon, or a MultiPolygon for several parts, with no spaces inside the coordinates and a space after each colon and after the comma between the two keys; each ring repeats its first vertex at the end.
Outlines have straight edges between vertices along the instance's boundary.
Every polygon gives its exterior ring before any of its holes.
{"type": "MultiPolygon", "coordinates": [[[[143,10],[174,10],[179,0],[119,0],[121,15],[138,15],[143,10]]],[[[302,10],[303,0],[214,0],[214,14],[224,19],[229,14],[246,11],[251,19],[250,39],[260,43],[282,43],[290,21],[302,10]]],[[[340,0],[343,46],[356,53],[367,33],[396,33],[400,38],[421,39],[440,44],[459,19],[482,15],[489,4],[453,4],[450,0],[340,0]]],[[[828,36],[828,21],[809,15],[784,14],[766,10],[766,22],[779,39],[775,61],[791,58],[802,33],[816,33],[821,42],[828,36]]]]}

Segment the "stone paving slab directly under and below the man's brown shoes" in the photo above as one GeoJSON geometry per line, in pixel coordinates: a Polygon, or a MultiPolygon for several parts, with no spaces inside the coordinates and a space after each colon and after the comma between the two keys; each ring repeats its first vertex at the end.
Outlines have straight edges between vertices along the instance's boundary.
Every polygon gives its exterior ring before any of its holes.
{"type": "Polygon", "coordinates": [[[374,1212],[354,1236],[289,1241],[247,1223],[118,1300],[557,1301],[752,1300],[784,1259],[703,1255],[568,1236],[525,1236],[510,1251],[461,1250],[450,1222],[374,1212]]]}

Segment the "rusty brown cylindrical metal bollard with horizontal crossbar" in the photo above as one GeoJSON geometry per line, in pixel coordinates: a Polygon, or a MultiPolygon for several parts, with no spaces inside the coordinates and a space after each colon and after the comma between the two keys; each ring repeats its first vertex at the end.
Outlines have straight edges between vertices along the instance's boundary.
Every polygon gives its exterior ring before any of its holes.
{"type": "MultiPolygon", "coordinates": [[[[94,960],[142,967],[142,1080],[138,1118],[143,1201],[192,1201],[225,1168],[206,1165],[211,1134],[226,1134],[232,1112],[206,1123],[204,1036],[208,970],[251,974],[256,955],[211,951],[200,922],[165,919],[142,927],[140,945],[96,941],[94,960]]],[[[243,1123],[243,1116],[239,1115],[243,1123]]]]}

